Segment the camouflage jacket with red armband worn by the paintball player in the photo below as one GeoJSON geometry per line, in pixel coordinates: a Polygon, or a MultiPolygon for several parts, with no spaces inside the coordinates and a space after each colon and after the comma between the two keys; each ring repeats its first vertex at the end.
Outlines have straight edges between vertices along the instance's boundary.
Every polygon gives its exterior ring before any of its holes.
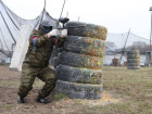
{"type": "Polygon", "coordinates": [[[34,29],[29,37],[28,51],[24,63],[29,63],[35,67],[48,66],[53,46],[60,48],[63,46],[64,40],[65,38],[59,38],[58,41],[55,41],[55,38],[47,38],[45,35],[42,35],[41,30],[34,29]],[[33,42],[34,37],[37,37],[35,46],[33,42]]]}

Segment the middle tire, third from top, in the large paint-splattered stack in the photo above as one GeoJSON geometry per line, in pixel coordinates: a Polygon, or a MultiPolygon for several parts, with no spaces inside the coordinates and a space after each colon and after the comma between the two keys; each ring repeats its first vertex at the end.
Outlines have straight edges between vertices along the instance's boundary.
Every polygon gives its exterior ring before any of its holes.
{"type": "Polygon", "coordinates": [[[103,66],[103,58],[77,54],[65,51],[59,53],[59,61],[62,65],[81,68],[101,69],[103,66]]]}

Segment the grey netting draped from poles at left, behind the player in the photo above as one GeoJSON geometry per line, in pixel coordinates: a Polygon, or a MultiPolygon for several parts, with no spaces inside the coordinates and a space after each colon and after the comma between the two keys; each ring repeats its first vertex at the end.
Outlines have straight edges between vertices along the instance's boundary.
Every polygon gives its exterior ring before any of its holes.
{"type": "MultiPolygon", "coordinates": [[[[34,28],[38,28],[40,20],[50,21],[53,27],[58,27],[59,21],[51,17],[49,13],[43,9],[35,20],[24,20],[13,13],[1,0],[0,0],[0,53],[11,58],[12,46],[16,43],[21,34],[23,34],[22,27],[26,26],[25,33],[30,34],[34,28]],[[43,15],[43,16],[42,16],[43,15]]],[[[1,55],[0,54],[0,55],[1,55]]]]}

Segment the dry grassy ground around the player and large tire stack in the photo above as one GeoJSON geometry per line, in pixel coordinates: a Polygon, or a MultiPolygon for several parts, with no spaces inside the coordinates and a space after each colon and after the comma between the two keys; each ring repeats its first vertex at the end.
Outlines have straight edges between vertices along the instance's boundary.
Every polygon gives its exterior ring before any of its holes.
{"type": "Polygon", "coordinates": [[[0,66],[1,114],[152,114],[152,67],[128,71],[126,67],[103,67],[104,91],[101,100],[72,100],[56,94],[43,105],[35,96],[43,83],[36,80],[27,103],[17,104],[20,73],[0,66]]]}

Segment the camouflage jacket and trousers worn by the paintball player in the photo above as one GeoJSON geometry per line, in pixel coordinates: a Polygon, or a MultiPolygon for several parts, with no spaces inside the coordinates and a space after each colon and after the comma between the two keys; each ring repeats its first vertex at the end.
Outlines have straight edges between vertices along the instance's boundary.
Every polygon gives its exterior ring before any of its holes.
{"type": "Polygon", "coordinates": [[[34,30],[29,38],[29,47],[22,66],[21,86],[18,96],[25,98],[33,89],[35,78],[38,77],[46,83],[39,96],[46,98],[53,90],[56,77],[48,66],[53,46],[60,48],[64,43],[64,38],[47,38],[41,30],[34,30]],[[38,37],[35,47],[33,38],[38,37]]]}

